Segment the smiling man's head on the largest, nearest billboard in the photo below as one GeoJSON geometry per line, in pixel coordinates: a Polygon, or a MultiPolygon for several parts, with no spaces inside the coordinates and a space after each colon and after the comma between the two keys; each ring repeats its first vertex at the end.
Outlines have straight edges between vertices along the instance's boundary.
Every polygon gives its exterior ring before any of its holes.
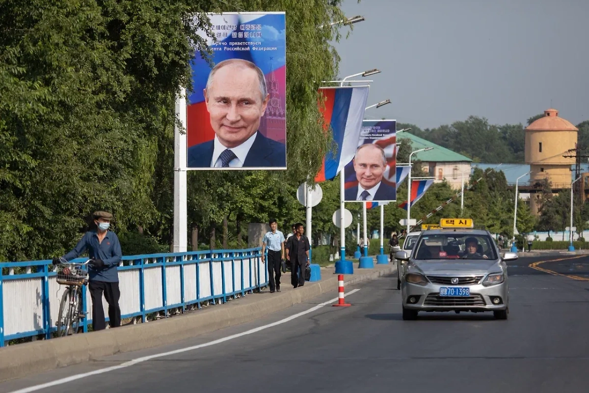
{"type": "Polygon", "coordinates": [[[260,127],[269,97],[260,73],[255,65],[235,61],[211,75],[204,97],[211,126],[224,147],[240,146],[260,127]]]}

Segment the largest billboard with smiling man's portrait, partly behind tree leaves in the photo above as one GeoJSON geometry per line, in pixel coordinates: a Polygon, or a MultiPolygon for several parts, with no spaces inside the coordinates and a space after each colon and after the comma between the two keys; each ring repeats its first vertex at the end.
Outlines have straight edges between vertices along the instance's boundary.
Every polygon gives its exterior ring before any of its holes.
{"type": "Polygon", "coordinates": [[[191,62],[188,169],[286,169],[284,12],[209,15],[212,65],[191,62]]]}

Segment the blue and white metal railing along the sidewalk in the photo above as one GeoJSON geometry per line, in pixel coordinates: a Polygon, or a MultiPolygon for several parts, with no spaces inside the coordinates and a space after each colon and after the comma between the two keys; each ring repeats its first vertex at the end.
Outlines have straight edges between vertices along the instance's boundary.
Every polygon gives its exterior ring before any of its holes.
{"type": "MultiPolygon", "coordinates": [[[[168,316],[171,310],[200,308],[204,302],[225,303],[267,286],[261,252],[256,247],[124,256],[118,266],[121,316],[147,322],[151,313],[168,316]]],[[[29,336],[51,338],[65,290],[55,280],[51,260],[4,262],[0,267],[0,346],[29,336]],[[15,268],[26,273],[15,274],[15,268]]],[[[102,303],[106,311],[104,299],[102,303]]],[[[82,311],[88,312],[84,332],[92,323],[91,309],[90,293],[83,286],[82,311]]]]}

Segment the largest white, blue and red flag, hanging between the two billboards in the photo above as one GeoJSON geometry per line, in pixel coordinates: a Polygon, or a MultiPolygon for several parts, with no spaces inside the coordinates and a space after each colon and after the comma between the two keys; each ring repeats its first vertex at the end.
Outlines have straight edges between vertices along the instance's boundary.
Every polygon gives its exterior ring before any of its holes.
{"type": "Polygon", "coordinates": [[[368,100],[368,86],[325,87],[319,89],[325,98],[325,107],[320,103],[324,128],[333,131],[333,150],[323,158],[323,165],[315,181],[332,180],[343,167],[352,161],[358,148],[362,119],[368,100]]]}

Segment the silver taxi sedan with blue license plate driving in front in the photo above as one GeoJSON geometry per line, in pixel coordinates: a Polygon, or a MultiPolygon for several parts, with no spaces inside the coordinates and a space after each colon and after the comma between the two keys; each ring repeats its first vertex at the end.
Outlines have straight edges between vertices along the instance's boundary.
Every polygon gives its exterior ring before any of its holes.
{"type": "Polygon", "coordinates": [[[426,230],[411,252],[398,251],[395,258],[406,262],[403,319],[415,319],[419,311],[492,311],[495,319],[507,319],[505,262],[517,254],[500,255],[487,230],[426,230]]]}

